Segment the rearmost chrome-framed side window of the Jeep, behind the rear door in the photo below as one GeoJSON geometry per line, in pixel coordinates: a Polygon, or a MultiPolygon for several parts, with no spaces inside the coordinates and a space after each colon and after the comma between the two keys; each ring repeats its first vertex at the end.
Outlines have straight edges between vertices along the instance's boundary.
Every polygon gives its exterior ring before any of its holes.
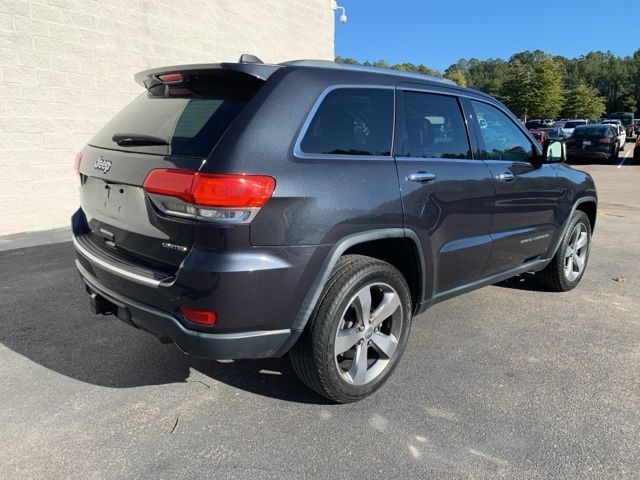
{"type": "Polygon", "coordinates": [[[393,91],[339,88],[327,94],[300,142],[303,153],[391,155],[393,91]]]}

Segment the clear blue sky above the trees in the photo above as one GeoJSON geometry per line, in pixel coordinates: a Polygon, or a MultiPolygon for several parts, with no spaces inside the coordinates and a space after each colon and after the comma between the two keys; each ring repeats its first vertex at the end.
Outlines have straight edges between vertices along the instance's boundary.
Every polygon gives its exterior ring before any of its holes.
{"type": "Polygon", "coordinates": [[[640,49],[636,0],[339,0],[335,53],[444,71],[460,58],[508,59],[524,50],[579,57],[640,49]],[[632,13],[635,11],[635,13],[632,13]],[[614,18],[614,15],[617,18],[614,18]]]}

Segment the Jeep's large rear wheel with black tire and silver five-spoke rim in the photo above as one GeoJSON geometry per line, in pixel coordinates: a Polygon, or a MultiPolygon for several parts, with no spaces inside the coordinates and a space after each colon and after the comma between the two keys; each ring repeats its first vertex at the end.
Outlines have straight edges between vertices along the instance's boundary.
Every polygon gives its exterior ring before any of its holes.
{"type": "MultiPolygon", "coordinates": [[[[387,293],[391,294],[392,292],[389,291],[387,293]]],[[[387,297],[380,297],[380,300],[382,298],[387,297]]],[[[338,403],[361,400],[380,388],[397,366],[406,348],[411,328],[411,317],[409,287],[403,275],[395,267],[371,257],[346,255],[340,258],[333,269],[302,336],[289,352],[293,369],[300,380],[309,388],[330,400],[338,403]],[[339,329],[345,328],[344,331],[347,330],[344,318],[349,314],[356,294],[367,287],[369,288],[367,291],[369,291],[372,298],[370,312],[375,313],[376,306],[379,305],[377,298],[374,298],[376,297],[375,288],[378,288],[376,286],[378,284],[384,285],[385,288],[391,287],[393,293],[397,294],[399,306],[394,311],[393,316],[389,316],[388,320],[383,322],[384,325],[391,325],[391,323],[387,324],[386,322],[400,322],[400,324],[393,324],[394,328],[398,328],[398,325],[400,325],[398,337],[393,337],[397,339],[397,345],[394,353],[389,358],[380,360],[383,363],[378,364],[378,367],[376,367],[380,369],[380,373],[375,378],[362,385],[355,385],[345,380],[345,375],[348,372],[342,370],[338,364],[338,359],[342,358],[342,356],[336,356],[335,353],[335,348],[337,348],[336,335],[339,329]],[[381,365],[384,366],[381,367],[381,365]]],[[[377,350],[375,344],[371,347],[368,345],[375,341],[376,337],[371,337],[371,335],[378,335],[376,332],[383,327],[383,324],[376,327],[375,332],[371,331],[371,327],[367,327],[364,333],[356,334],[369,334],[367,338],[371,339],[366,340],[366,347],[359,347],[360,343],[352,347],[356,349],[356,352],[360,352],[359,348],[366,348],[364,358],[367,358],[367,361],[365,365],[369,365],[365,367],[366,373],[370,370],[374,372],[373,367],[379,361],[377,358],[369,358],[369,355],[377,357],[379,350],[377,350]],[[370,360],[373,363],[370,364],[370,360]]],[[[360,331],[360,327],[357,327],[357,325],[360,324],[350,324],[351,328],[348,330],[357,329],[360,331]]],[[[385,326],[384,328],[387,327],[385,326]]],[[[380,334],[382,333],[381,331],[380,334]]],[[[364,341],[364,339],[358,340],[358,342],[364,341]]],[[[345,351],[344,354],[349,352],[351,350],[345,351]]],[[[353,353],[353,359],[347,359],[346,362],[355,362],[356,355],[358,354],[353,353]]]]}

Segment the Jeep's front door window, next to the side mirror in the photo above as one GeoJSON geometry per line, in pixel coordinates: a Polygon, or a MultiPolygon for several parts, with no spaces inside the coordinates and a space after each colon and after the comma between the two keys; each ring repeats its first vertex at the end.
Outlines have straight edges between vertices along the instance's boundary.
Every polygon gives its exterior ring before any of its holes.
{"type": "Polygon", "coordinates": [[[526,162],[533,158],[533,144],[507,115],[486,103],[471,103],[487,159],[526,162]]]}

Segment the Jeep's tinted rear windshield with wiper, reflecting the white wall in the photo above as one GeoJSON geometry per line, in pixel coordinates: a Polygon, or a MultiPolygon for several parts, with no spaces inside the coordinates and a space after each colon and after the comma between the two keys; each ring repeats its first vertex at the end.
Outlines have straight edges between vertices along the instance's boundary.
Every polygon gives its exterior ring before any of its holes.
{"type": "Polygon", "coordinates": [[[112,150],[206,157],[263,82],[226,73],[157,85],[89,142],[112,150]],[[125,140],[122,140],[122,139],[125,140]]]}

